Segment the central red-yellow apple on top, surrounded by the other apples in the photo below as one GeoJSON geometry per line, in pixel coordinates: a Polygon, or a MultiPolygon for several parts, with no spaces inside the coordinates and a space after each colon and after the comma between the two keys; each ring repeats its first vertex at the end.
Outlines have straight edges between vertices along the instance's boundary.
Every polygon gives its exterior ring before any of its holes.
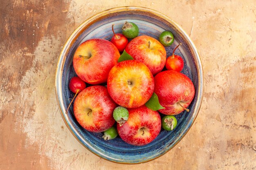
{"type": "Polygon", "coordinates": [[[136,60],[117,63],[108,75],[108,93],[120,106],[144,105],[154,91],[154,77],[148,67],[136,60]]]}

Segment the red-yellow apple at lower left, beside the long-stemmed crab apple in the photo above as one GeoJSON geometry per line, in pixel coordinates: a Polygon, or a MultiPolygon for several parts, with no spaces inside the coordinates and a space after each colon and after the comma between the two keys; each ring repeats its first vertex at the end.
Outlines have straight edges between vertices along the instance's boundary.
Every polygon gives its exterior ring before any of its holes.
{"type": "Polygon", "coordinates": [[[112,113],[116,106],[106,87],[90,86],[77,95],[74,116],[86,130],[103,132],[115,124],[112,113]]]}

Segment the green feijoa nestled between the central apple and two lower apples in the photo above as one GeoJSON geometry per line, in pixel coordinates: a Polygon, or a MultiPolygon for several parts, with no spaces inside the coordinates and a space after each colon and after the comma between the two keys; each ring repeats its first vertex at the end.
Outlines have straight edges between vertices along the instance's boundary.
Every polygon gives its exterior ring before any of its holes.
{"type": "Polygon", "coordinates": [[[129,112],[126,108],[118,106],[113,111],[113,117],[119,126],[122,126],[128,120],[129,112]]]}

